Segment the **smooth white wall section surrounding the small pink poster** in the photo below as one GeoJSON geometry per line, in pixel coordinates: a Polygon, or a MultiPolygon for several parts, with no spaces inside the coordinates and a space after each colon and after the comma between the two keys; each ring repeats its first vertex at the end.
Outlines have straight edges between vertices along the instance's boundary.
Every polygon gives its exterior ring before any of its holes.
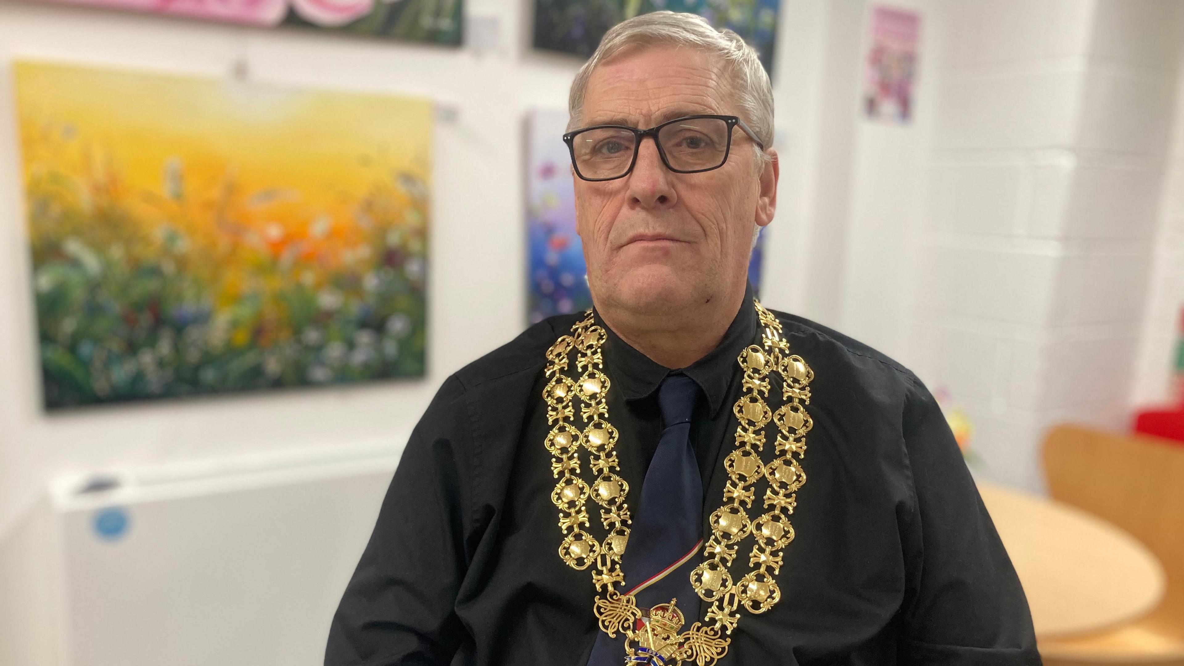
{"type": "MultiPolygon", "coordinates": [[[[793,280],[783,283],[789,288],[785,308],[906,365],[916,358],[909,335],[928,159],[925,147],[933,126],[935,55],[931,45],[941,30],[932,7],[940,1],[892,2],[921,18],[915,107],[906,124],[862,115],[864,55],[875,2],[789,2],[791,7],[817,5],[804,37],[818,46],[810,52],[812,77],[802,81],[800,89],[781,91],[783,97],[805,92],[799,101],[803,115],[793,124],[803,142],[790,146],[805,169],[791,190],[800,198],[790,211],[783,201],[778,216],[791,216],[794,233],[773,236],[793,243],[777,255],[783,269],[797,269],[793,280]]],[[[764,289],[771,289],[767,280],[764,289]]]]}

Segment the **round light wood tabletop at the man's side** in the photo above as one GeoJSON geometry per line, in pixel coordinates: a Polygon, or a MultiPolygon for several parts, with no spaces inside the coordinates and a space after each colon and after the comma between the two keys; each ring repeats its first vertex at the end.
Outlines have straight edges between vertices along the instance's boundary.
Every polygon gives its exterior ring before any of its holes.
{"type": "Polygon", "coordinates": [[[1038,638],[1137,620],[1163,597],[1159,561],[1117,526],[1056,500],[990,484],[978,484],[978,491],[1019,575],[1038,638]]]}

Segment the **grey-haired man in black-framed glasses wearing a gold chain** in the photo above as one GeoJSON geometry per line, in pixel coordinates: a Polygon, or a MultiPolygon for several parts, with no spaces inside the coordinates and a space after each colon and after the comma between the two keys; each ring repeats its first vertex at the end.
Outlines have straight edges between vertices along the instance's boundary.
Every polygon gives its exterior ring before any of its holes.
{"type": "Polygon", "coordinates": [[[570,111],[594,308],[444,383],[326,664],[1040,664],[929,392],[753,299],[778,162],[752,49],[630,19],[570,111]]]}

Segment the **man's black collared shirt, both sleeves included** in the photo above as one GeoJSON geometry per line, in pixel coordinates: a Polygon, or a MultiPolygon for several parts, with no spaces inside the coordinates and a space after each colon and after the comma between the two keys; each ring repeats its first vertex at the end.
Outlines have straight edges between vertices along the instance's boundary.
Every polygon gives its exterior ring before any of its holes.
{"type": "MultiPolygon", "coordinates": [[[[774,314],[815,371],[807,481],[777,577],[781,601],[762,615],[741,610],[720,666],[1040,664],[1023,590],[929,392],[879,352],[774,314]]],[[[559,558],[542,446],[543,352],[577,319],[547,319],[445,380],[341,600],[327,666],[585,664],[596,589],[588,570],[559,558]]],[[[757,332],[749,292],[720,345],[682,370],[702,390],[691,443],[704,521],[727,480],[736,356],[757,332]]],[[[611,329],[604,360],[636,511],[661,433],[656,390],[670,370],[611,329]]]]}

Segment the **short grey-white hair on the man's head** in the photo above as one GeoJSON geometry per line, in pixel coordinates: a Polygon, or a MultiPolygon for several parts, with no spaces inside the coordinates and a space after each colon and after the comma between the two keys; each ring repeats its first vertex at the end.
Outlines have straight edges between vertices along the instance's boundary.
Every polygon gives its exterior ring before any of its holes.
{"type": "MultiPolygon", "coordinates": [[[[596,52],[572,81],[572,91],[567,98],[567,130],[577,129],[580,124],[584,95],[597,65],[628,46],[655,44],[700,49],[716,58],[722,65],[721,73],[726,85],[735,95],[740,117],[765,148],[772,147],[773,85],[760,64],[757,50],[731,30],[715,30],[703,17],[668,11],[636,15],[604,33],[596,52]]],[[[760,148],[757,148],[757,153],[765,160],[771,159],[760,148]]]]}

